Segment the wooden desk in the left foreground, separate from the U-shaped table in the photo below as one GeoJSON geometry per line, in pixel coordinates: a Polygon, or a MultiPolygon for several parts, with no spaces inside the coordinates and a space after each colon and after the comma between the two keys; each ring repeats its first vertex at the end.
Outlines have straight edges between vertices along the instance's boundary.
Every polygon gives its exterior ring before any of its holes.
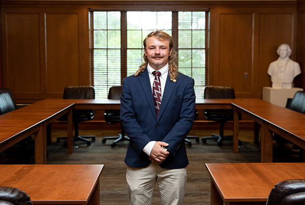
{"type": "Polygon", "coordinates": [[[104,165],[0,165],[0,185],[25,191],[33,204],[99,205],[103,168],[104,165]]]}

